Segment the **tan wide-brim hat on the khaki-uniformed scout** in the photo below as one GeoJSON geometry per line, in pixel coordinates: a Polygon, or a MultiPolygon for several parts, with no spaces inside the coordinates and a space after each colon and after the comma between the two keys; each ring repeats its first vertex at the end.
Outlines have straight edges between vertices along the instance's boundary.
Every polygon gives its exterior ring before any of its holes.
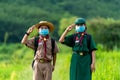
{"type": "Polygon", "coordinates": [[[52,32],[54,30],[54,25],[48,21],[40,21],[38,24],[35,25],[36,28],[40,28],[41,26],[48,26],[49,31],[52,32]]]}

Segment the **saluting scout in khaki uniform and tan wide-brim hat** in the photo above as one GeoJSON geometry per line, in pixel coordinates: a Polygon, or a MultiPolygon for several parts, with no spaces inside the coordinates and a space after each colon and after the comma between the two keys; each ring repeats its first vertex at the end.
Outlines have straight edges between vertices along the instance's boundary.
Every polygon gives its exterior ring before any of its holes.
{"type": "Polygon", "coordinates": [[[33,80],[52,80],[52,71],[56,63],[56,53],[59,51],[55,42],[53,53],[51,52],[52,39],[49,32],[54,30],[54,25],[48,21],[40,21],[38,24],[28,29],[21,43],[33,50],[35,50],[35,37],[28,39],[28,36],[35,28],[38,29],[39,39],[37,41],[38,47],[34,57],[33,80]]]}

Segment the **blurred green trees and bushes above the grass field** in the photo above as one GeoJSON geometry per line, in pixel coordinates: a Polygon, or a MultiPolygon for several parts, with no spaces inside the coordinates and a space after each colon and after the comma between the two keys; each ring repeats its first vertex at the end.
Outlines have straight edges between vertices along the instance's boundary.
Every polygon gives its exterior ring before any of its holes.
{"type": "MultiPolygon", "coordinates": [[[[120,0],[1,0],[0,43],[20,42],[26,30],[41,20],[55,25],[51,36],[58,40],[76,17],[84,17],[89,20],[88,25],[95,26],[90,32],[97,43],[108,48],[119,47],[119,5],[120,0]]],[[[36,30],[30,37],[34,35],[37,35],[36,30]]]]}

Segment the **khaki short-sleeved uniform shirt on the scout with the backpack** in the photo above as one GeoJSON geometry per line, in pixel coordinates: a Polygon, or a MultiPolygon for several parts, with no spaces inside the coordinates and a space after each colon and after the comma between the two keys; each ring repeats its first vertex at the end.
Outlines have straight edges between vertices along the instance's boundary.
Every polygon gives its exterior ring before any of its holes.
{"type": "MultiPolygon", "coordinates": [[[[34,48],[34,39],[35,39],[35,37],[27,40],[27,43],[26,43],[26,45],[29,48],[32,48],[33,50],[35,49],[34,48]]],[[[49,37],[46,41],[46,57],[47,57],[48,60],[53,59],[51,50],[52,50],[51,38],[49,37]]],[[[58,49],[58,46],[55,42],[54,54],[56,54],[58,52],[59,52],[59,49],[58,49]]],[[[45,51],[44,51],[44,41],[43,41],[42,37],[39,37],[38,48],[37,48],[36,55],[35,55],[34,59],[35,60],[44,59],[44,53],[45,53],[45,51]]]]}

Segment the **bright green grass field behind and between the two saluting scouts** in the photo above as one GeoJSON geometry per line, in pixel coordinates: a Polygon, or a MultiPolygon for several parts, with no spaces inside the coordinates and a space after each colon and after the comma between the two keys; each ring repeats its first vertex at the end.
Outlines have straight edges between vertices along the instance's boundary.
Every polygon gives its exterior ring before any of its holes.
{"type": "MultiPolygon", "coordinates": [[[[32,80],[33,51],[21,44],[0,47],[0,80],[32,80]]],[[[71,49],[59,44],[53,80],[69,80],[71,49]]],[[[120,51],[96,52],[96,71],[93,80],[120,80],[120,51]]]]}

